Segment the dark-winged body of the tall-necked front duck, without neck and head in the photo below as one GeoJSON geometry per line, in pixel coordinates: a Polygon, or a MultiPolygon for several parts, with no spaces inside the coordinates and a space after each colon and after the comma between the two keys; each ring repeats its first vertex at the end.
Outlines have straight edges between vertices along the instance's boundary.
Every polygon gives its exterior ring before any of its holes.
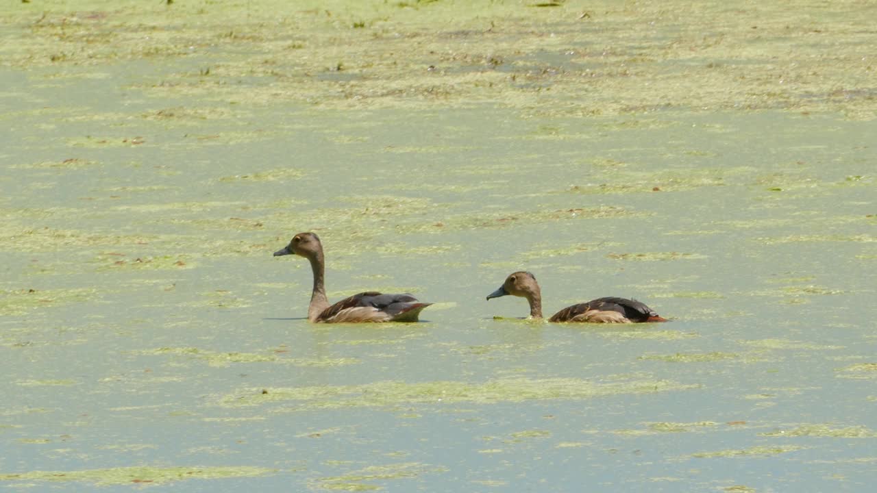
{"type": "Polygon", "coordinates": [[[417,322],[417,317],[430,303],[419,303],[408,293],[381,294],[366,291],[346,297],[326,308],[316,322],[417,322]]]}

